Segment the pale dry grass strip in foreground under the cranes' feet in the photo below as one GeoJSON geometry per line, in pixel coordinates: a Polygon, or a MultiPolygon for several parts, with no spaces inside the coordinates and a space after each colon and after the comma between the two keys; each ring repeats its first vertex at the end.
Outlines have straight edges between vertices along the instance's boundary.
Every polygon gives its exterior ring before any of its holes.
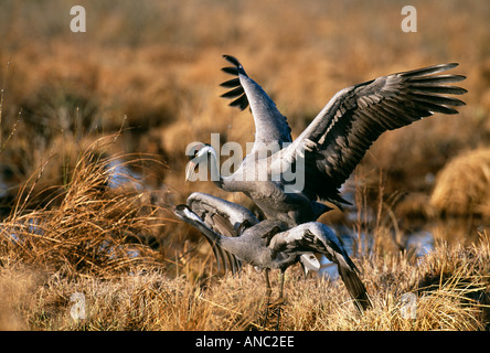
{"type": "MultiPolygon", "coordinates": [[[[488,243],[471,249],[441,246],[418,265],[406,257],[363,260],[373,309],[360,315],[343,285],[290,271],[281,330],[486,330],[489,319],[488,243]],[[416,317],[404,315],[403,295],[416,293],[416,317]]],[[[237,277],[200,287],[161,269],[110,280],[73,280],[60,272],[3,268],[3,329],[35,330],[263,330],[262,275],[246,267],[237,277]],[[15,278],[12,278],[15,276],[15,278]],[[86,319],[74,320],[70,298],[82,292],[86,319]],[[12,320],[13,318],[13,320],[12,320]],[[8,323],[8,324],[7,324],[8,323]]]]}

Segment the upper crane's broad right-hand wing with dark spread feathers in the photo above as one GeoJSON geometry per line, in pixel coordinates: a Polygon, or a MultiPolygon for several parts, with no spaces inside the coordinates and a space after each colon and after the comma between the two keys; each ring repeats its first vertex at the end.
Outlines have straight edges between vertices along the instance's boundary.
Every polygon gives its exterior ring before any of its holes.
{"type": "Polygon", "coordinates": [[[458,64],[441,64],[382,76],[335,94],[305,131],[289,146],[294,163],[305,158],[303,192],[341,203],[338,189],[371,145],[386,130],[409,125],[434,113],[457,114],[464,101],[444,96],[466,89],[445,85],[461,75],[435,75],[458,64]]]}

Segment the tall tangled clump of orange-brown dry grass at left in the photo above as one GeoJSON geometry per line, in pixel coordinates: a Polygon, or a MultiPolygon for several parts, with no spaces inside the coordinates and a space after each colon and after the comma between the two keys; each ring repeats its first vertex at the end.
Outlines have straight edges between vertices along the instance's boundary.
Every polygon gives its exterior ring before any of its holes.
{"type": "Polygon", "coordinates": [[[30,199],[39,197],[33,191],[50,160],[21,189],[0,228],[2,261],[104,277],[160,260],[158,252],[143,243],[163,226],[161,208],[151,204],[152,194],[141,180],[119,171],[143,160],[103,158],[98,149],[105,143],[97,140],[83,151],[73,170],[65,170],[64,185],[43,191],[47,201],[42,207],[29,210],[30,199]]]}

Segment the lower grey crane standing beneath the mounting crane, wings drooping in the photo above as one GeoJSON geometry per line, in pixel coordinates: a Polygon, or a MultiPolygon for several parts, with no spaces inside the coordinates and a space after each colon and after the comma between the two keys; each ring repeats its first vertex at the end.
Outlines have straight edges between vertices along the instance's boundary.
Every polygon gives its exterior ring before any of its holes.
{"type": "Polygon", "coordinates": [[[333,232],[321,223],[308,222],[289,228],[278,220],[258,222],[247,208],[203,193],[191,194],[188,204],[177,205],[173,212],[204,234],[221,261],[241,260],[264,269],[267,296],[271,291],[270,269],[280,269],[281,299],[286,269],[301,261],[301,257],[317,253],[337,264],[355,307],[360,311],[371,307],[358,268],[333,232]],[[231,236],[221,234],[219,229],[226,229],[231,236]]]}

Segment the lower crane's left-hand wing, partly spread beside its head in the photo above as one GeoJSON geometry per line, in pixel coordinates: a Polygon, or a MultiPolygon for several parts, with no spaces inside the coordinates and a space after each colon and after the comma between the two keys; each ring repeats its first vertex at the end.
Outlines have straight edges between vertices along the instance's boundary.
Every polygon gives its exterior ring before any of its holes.
{"type": "MultiPolygon", "coordinates": [[[[238,236],[242,226],[258,223],[255,215],[244,206],[209,194],[194,192],[188,197],[187,204],[210,229],[225,236],[238,236]]],[[[207,237],[206,239],[210,240],[207,237]]],[[[216,257],[219,270],[222,264],[225,270],[231,267],[233,274],[241,269],[242,264],[235,255],[211,240],[210,244],[216,257]]]]}

